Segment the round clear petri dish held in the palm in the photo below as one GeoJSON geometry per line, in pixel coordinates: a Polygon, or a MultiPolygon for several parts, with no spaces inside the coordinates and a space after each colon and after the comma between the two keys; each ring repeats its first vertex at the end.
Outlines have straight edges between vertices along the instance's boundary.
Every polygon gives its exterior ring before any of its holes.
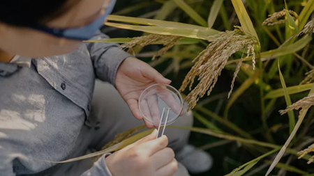
{"type": "Polygon", "coordinates": [[[156,127],[175,122],[181,115],[183,104],[184,100],[176,88],[160,83],[146,88],[138,101],[144,120],[156,127]]]}

